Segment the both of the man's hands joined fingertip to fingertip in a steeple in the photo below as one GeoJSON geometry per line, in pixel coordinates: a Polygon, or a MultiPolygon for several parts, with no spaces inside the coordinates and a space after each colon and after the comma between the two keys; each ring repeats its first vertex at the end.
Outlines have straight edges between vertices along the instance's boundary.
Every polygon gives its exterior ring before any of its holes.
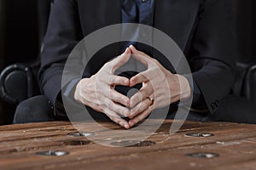
{"type": "Polygon", "coordinates": [[[105,64],[96,75],[81,80],[76,87],[74,99],[106,114],[121,127],[130,128],[143,121],[154,109],[188,99],[190,93],[189,82],[185,77],[172,74],[156,59],[130,46],[124,54],[105,64]],[[131,53],[148,70],[138,73],[131,80],[113,75],[130,59],[131,53]],[[138,83],[143,83],[143,88],[131,99],[114,90],[116,85],[133,87],[138,83]],[[154,105],[151,105],[152,101],[148,98],[154,99],[154,105]],[[131,111],[125,106],[132,108],[131,111]],[[119,115],[129,116],[130,122],[119,115]]]}

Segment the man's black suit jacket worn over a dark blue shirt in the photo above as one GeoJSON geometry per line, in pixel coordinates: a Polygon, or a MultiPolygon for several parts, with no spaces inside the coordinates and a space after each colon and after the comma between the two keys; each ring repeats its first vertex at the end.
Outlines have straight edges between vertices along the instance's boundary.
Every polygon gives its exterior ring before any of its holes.
{"type": "MultiPolygon", "coordinates": [[[[124,0],[55,0],[51,4],[39,79],[43,93],[55,104],[61,74],[75,45],[91,32],[121,22],[124,0]]],[[[194,81],[211,113],[230,94],[235,81],[236,14],[232,0],[156,0],[154,27],[177,42],[189,61],[194,81]]],[[[143,49],[141,49],[143,50],[143,49]]],[[[89,75],[118,50],[90,65],[89,75]]],[[[98,54],[102,56],[102,54],[98,54]]]]}

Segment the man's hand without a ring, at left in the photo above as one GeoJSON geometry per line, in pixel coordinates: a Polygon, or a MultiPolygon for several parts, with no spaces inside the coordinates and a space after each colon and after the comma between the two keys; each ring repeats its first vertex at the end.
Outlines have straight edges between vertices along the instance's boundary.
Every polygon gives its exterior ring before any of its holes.
{"type": "Polygon", "coordinates": [[[82,79],[74,93],[74,99],[106,114],[113,122],[125,128],[130,128],[130,125],[119,115],[130,116],[130,110],[125,107],[130,105],[130,99],[116,92],[114,86],[129,86],[130,80],[126,77],[115,76],[113,73],[124,65],[130,56],[131,49],[127,48],[124,54],[105,64],[96,75],[82,79]]]}

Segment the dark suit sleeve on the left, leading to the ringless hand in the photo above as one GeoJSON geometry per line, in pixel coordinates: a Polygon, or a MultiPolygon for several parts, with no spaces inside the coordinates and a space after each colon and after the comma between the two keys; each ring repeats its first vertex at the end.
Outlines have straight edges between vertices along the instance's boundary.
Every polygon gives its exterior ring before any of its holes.
{"type": "Polygon", "coordinates": [[[77,8],[74,0],[51,3],[38,78],[42,93],[54,105],[58,94],[61,94],[61,77],[67,57],[83,38],[77,8]]]}

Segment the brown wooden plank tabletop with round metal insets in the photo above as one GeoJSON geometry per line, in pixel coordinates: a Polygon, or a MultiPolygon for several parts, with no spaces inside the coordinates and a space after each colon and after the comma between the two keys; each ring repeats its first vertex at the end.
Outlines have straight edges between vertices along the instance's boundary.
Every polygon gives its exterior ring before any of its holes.
{"type": "MultiPolygon", "coordinates": [[[[106,124],[118,128],[113,123],[106,124]]],[[[144,144],[149,146],[137,144],[125,148],[102,146],[84,137],[67,135],[76,132],[69,122],[3,126],[0,127],[0,169],[256,169],[256,125],[185,122],[171,135],[171,124],[172,121],[166,121],[148,138],[147,142],[151,142],[144,144]],[[188,133],[214,136],[188,137],[188,133]],[[36,154],[48,150],[68,154],[36,154]],[[188,155],[193,153],[199,153],[195,155],[198,157],[188,155]],[[217,157],[207,158],[211,153],[217,157]]]]}

